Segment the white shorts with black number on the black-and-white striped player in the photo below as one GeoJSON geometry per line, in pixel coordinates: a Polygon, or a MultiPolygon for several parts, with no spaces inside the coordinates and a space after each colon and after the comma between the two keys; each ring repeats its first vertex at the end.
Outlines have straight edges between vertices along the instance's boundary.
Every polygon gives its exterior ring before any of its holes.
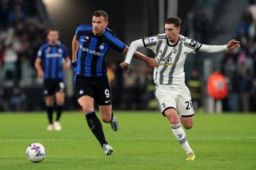
{"type": "Polygon", "coordinates": [[[156,85],[154,94],[164,116],[166,109],[170,108],[176,109],[179,117],[194,115],[190,90],[186,85],[156,85]]]}

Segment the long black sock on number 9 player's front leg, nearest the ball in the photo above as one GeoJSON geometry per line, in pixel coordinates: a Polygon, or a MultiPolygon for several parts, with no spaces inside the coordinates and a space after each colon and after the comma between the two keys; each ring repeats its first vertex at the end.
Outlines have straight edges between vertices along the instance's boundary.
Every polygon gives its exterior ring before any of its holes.
{"type": "Polygon", "coordinates": [[[104,132],[102,129],[102,123],[99,121],[95,112],[86,113],[86,121],[89,126],[91,132],[94,133],[94,136],[97,138],[98,142],[103,145],[107,144],[104,132]]]}

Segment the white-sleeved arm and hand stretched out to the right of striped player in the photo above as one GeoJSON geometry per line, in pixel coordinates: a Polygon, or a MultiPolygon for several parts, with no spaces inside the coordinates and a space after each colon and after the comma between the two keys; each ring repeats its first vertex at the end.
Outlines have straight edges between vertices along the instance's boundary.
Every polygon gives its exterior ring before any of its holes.
{"type": "Polygon", "coordinates": [[[240,47],[240,42],[232,39],[226,45],[204,45],[198,49],[198,51],[206,52],[206,53],[218,53],[222,51],[232,50],[240,47]]]}

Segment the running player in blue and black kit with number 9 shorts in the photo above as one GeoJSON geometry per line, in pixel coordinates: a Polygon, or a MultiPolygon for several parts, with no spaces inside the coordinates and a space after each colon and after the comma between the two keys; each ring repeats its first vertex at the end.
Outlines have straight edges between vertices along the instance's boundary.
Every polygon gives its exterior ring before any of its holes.
{"type": "MultiPolygon", "coordinates": [[[[112,101],[109,80],[106,74],[106,54],[110,49],[127,53],[128,48],[107,28],[108,15],[97,10],[92,17],[92,25],[78,26],[72,41],[72,66],[75,74],[75,93],[78,104],[85,113],[87,125],[101,144],[106,155],[114,149],[106,142],[94,110],[94,102],[98,104],[103,122],[110,123],[114,132],[118,131],[118,121],[112,112],[112,101]]],[[[134,53],[134,57],[155,66],[154,58],[134,53]]]]}

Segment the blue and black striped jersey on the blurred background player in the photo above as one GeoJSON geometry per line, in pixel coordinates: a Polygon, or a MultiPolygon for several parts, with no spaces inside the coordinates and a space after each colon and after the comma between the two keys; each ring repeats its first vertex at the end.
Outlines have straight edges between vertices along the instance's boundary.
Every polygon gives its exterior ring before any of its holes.
{"type": "Polygon", "coordinates": [[[38,49],[38,58],[42,60],[44,79],[62,79],[62,60],[67,57],[66,45],[58,42],[50,45],[48,42],[38,49]]]}

